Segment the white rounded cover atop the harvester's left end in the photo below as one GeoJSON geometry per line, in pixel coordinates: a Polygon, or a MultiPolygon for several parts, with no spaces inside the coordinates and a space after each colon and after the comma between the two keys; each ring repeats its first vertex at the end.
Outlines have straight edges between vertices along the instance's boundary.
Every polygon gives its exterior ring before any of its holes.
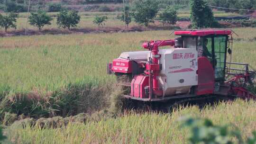
{"type": "Polygon", "coordinates": [[[119,58],[127,59],[128,57],[130,57],[130,60],[147,61],[148,54],[150,54],[150,51],[124,52],[120,54],[119,58]]]}

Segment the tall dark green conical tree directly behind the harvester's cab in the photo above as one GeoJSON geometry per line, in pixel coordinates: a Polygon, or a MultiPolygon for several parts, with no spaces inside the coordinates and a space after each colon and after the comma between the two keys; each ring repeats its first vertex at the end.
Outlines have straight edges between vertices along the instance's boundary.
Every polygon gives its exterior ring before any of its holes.
{"type": "Polygon", "coordinates": [[[204,0],[191,0],[190,7],[192,28],[218,26],[218,22],[213,17],[211,9],[206,5],[204,0]]]}

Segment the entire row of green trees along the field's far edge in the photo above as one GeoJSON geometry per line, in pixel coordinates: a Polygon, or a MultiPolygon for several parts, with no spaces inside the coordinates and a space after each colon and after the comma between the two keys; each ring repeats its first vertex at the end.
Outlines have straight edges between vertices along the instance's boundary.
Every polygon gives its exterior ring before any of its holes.
{"type": "MultiPolygon", "coordinates": [[[[125,22],[128,26],[129,23],[134,19],[138,24],[148,26],[149,23],[154,22],[156,15],[159,12],[159,3],[155,0],[136,0],[135,11],[130,12],[129,8],[125,8],[125,12],[118,16],[117,18],[125,22]]],[[[211,9],[207,6],[204,0],[191,0],[191,21],[192,28],[202,28],[202,27],[218,27],[219,23],[213,17],[211,9]]],[[[7,30],[9,27],[16,28],[16,18],[17,14],[10,13],[8,16],[3,16],[0,14],[0,27],[4,27],[7,30]]],[[[96,16],[93,20],[94,24],[99,27],[103,26],[104,21],[108,17],[96,16]]],[[[164,25],[175,24],[178,20],[177,12],[172,7],[166,7],[162,12],[159,13],[159,19],[164,25]]],[[[31,13],[29,16],[29,23],[32,26],[38,27],[41,30],[45,25],[51,25],[51,18],[45,11],[39,10],[37,13],[31,13]]],[[[80,16],[78,11],[63,9],[57,14],[57,25],[59,27],[68,28],[76,27],[80,22],[80,16]]]]}

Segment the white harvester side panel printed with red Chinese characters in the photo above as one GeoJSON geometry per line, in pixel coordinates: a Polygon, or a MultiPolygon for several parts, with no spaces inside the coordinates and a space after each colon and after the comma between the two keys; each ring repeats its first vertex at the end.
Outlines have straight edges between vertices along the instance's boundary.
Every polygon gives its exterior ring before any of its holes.
{"type": "Polygon", "coordinates": [[[187,93],[191,86],[198,85],[195,49],[161,49],[159,54],[162,64],[159,81],[165,95],[187,93]]]}

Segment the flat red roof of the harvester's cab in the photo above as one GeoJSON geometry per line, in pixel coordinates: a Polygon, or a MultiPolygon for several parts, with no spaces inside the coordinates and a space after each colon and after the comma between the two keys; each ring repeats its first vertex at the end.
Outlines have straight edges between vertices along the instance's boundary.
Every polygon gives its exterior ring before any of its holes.
{"type": "Polygon", "coordinates": [[[208,36],[208,35],[231,35],[232,30],[177,30],[177,36],[208,36]]]}

